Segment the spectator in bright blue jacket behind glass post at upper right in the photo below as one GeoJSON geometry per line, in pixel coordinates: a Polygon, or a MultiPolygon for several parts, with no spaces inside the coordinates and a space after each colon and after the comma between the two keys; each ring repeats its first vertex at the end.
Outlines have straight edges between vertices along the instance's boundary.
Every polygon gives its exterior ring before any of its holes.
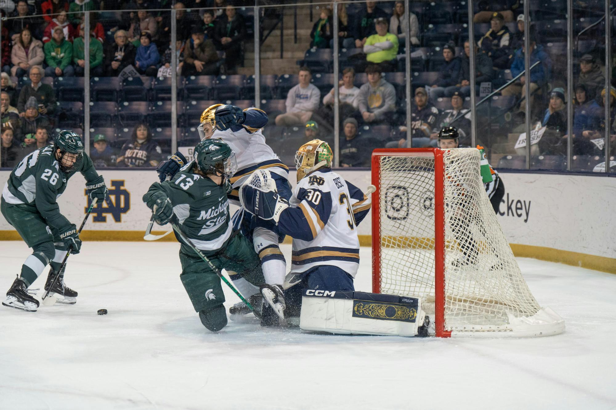
{"type": "MultiPolygon", "coordinates": [[[[529,31],[530,32],[530,31],[529,31]]],[[[513,60],[513,64],[511,64],[511,75],[516,77],[522,71],[524,71],[524,46],[522,49],[517,50],[516,57],[513,60]]],[[[549,72],[551,69],[551,62],[549,60],[548,54],[543,51],[543,46],[537,45],[535,39],[533,38],[533,34],[530,33],[530,65],[532,66],[536,62],[541,62],[530,70],[530,105],[532,107],[533,103],[533,94],[535,94],[535,90],[538,87],[543,86],[548,79],[549,72]]],[[[516,95],[521,96],[522,98],[526,95],[526,87],[524,86],[527,81],[527,76],[521,76],[518,81],[514,82],[508,87],[505,87],[502,91],[502,95],[516,95]]],[[[520,110],[525,111],[525,104],[520,105],[520,110]]]]}

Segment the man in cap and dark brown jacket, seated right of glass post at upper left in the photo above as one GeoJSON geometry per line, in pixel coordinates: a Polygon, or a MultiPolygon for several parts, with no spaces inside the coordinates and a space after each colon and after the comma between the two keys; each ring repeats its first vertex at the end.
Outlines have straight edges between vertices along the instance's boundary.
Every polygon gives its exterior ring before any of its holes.
{"type": "Polygon", "coordinates": [[[184,47],[183,76],[218,75],[219,60],[212,40],[206,40],[201,25],[193,26],[190,40],[184,47]]]}

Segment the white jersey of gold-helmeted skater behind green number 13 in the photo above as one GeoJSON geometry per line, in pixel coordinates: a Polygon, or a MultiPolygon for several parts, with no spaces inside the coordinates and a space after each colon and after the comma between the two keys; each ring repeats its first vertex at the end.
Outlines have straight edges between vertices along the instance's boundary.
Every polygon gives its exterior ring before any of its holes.
{"type": "Polygon", "coordinates": [[[223,140],[235,151],[238,171],[231,178],[233,191],[229,199],[236,205],[239,204],[238,188],[256,169],[267,169],[286,179],[289,176],[289,168],[265,142],[262,127],[267,124],[267,114],[257,108],[247,108],[244,112],[246,118],[243,124],[225,131],[216,130],[212,135],[212,138],[223,140]]]}

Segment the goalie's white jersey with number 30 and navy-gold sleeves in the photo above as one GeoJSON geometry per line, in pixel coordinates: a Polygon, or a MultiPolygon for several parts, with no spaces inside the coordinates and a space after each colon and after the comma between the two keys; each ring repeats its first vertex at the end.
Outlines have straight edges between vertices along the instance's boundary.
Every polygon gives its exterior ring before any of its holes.
{"type": "Polygon", "coordinates": [[[321,169],[293,190],[278,227],[293,237],[291,272],[334,265],[355,277],[359,267],[357,224],[370,210],[370,198],[336,172],[321,169]]]}

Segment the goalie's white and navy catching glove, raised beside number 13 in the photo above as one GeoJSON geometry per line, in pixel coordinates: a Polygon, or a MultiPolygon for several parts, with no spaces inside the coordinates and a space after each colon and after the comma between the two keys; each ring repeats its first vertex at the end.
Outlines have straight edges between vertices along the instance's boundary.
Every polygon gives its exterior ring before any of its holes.
{"type": "Polygon", "coordinates": [[[272,174],[257,169],[240,187],[240,203],[247,212],[265,220],[274,219],[289,207],[289,202],[278,195],[272,174]]]}

